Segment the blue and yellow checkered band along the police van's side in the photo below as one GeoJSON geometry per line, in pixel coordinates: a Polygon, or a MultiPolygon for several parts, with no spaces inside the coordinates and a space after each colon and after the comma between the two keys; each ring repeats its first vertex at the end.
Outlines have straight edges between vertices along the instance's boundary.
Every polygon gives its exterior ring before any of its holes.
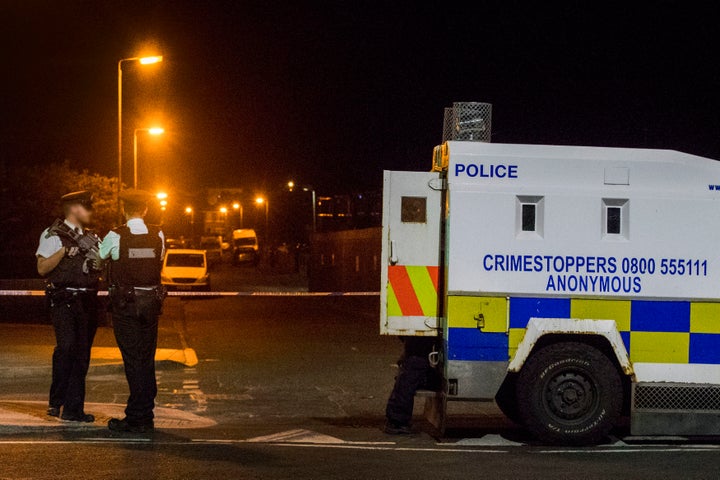
{"type": "Polygon", "coordinates": [[[449,297],[448,359],[507,361],[532,317],[615,320],[633,362],[720,364],[720,303],[532,297],[449,297]]]}

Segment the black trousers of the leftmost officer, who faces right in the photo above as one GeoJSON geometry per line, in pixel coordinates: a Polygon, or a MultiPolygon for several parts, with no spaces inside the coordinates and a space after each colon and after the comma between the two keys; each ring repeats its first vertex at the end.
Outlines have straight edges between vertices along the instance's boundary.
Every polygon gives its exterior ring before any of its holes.
{"type": "Polygon", "coordinates": [[[50,406],[64,413],[85,412],[85,377],[90,366],[90,349],[97,332],[97,295],[79,293],[50,301],[55,329],[50,406]]]}

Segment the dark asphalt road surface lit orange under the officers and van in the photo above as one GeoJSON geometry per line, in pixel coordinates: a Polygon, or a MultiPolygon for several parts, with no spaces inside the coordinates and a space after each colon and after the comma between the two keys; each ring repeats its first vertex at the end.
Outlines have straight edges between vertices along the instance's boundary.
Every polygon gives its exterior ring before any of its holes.
{"type": "MultiPolygon", "coordinates": [[[[122,413],[128,392],[121,367],[102,355],[87,389],[87,411],[98,422],[46,417],[52,332],[0,324],[0,362],[15,362],[3,368],[31,369],[0,376],[0,479],[720,478],[717,440],[638,439],[620,430],[598,447],[545,447],[491,403],[451,404],[450,429],[440,437],[418,401],[414,433],[385,435],[401,345],[378,335],[377,297],[194,298],[169,306],[161,345],[192,349],[197,363],[158,362],[153,435],[104,427],[122,413]]],[[[107,327],[101,332],[96,345],[114,348],[107,327]]]]}

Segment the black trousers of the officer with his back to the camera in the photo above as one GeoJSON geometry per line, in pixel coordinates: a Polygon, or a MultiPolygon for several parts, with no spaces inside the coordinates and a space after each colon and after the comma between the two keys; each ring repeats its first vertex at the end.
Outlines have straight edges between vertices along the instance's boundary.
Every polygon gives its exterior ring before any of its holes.
{"type": "Polygon", "coordinates": [[[130,387],[125,415],[131,425],[146,425],[154,418],[158,313],[155,297],[138,296],[134,302],[122,307],[113,305],[115,340],[120,347],[125,378],[130,387]]]}

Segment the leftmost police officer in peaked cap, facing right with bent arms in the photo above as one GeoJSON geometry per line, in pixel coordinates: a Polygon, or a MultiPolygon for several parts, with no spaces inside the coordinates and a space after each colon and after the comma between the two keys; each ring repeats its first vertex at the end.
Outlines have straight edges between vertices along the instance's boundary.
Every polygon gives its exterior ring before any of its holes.
{"type": "Polygon", "coordinates": [[[35,253],[38,273],[48,281],[46,294],[56,340],[47,414],[89,423],[95,417],[85,413],[85,376],[97,331],[100,275],[77,238],[91,235],[85,225],[92,215],[92,194],[73,192],[61,200],[65,221],[58,220],[43,232],[35,253]]]}

